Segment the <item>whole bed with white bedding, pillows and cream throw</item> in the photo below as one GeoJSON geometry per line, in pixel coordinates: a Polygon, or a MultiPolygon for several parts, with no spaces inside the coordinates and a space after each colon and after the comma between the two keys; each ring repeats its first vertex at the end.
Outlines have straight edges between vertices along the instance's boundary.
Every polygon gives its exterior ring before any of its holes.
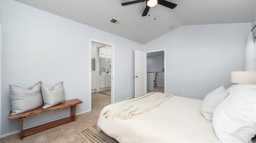
{"type": "Polygon", "coordinates": [[[150,95],[150,100],[145,100],[149,97],[146,94],[104,107],[98,129],[119,142],[252,143],[253,137],[255,140],[255,84],[234,84],[227,90],[220,86],[204,100],[169,98],[167,94],[157,93],[160,92],[150,95]],[[144,111],[141,110],[144,105],[158,103],[151,96],[168,98],[147,112],[138,113],[144,111]],[[130,114],[134,116],[127,119],[130,114]]]}

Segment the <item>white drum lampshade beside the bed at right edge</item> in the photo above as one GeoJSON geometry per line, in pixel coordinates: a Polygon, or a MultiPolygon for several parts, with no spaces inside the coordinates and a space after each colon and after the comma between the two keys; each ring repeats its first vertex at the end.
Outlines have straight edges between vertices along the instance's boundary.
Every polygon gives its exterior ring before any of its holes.
{"type": "Polygon", "coordinates": [[[232,83],[256,84],[256,71],[232,71],[232,83]]]}

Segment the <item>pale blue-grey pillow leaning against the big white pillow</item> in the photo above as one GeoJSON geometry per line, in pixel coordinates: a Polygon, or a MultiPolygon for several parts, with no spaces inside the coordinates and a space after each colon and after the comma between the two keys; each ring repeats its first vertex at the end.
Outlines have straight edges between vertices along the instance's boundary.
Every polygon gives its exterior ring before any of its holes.
{"type": "Polygon", "coordinates": [[[212,121],[212,114],[215,108],[226,98],[227,94],[226,89],[220,86],[204,97],[201,112],[207,121],[212,121]]]}

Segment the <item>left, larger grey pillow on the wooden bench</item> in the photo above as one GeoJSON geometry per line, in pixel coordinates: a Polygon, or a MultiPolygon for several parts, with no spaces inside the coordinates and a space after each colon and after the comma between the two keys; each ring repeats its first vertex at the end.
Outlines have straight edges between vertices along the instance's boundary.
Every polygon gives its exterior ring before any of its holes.
{"type": "Polygon", "coordinates": [[[43,98],[41,93],[41,84],[38,82],[30,88],[22,88],[9,84],[10,97],[12,103],[12,114],[20,114],[28,110],[32,110],[43,106],[43,98]]]}

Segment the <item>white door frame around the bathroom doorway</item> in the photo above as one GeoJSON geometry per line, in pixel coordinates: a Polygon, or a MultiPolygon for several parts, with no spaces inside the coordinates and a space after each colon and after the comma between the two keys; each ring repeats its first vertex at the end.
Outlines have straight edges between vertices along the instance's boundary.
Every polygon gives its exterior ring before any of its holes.
{"type": "Polygon", "coordinates": [[[115,45],[99,41],[96,39],[89,39],[89,106],[90,111],[92,110],[92,42],[101,43],[104,45],[112,46],[111,50],[111,103],[115,102],[115,45]]]}

